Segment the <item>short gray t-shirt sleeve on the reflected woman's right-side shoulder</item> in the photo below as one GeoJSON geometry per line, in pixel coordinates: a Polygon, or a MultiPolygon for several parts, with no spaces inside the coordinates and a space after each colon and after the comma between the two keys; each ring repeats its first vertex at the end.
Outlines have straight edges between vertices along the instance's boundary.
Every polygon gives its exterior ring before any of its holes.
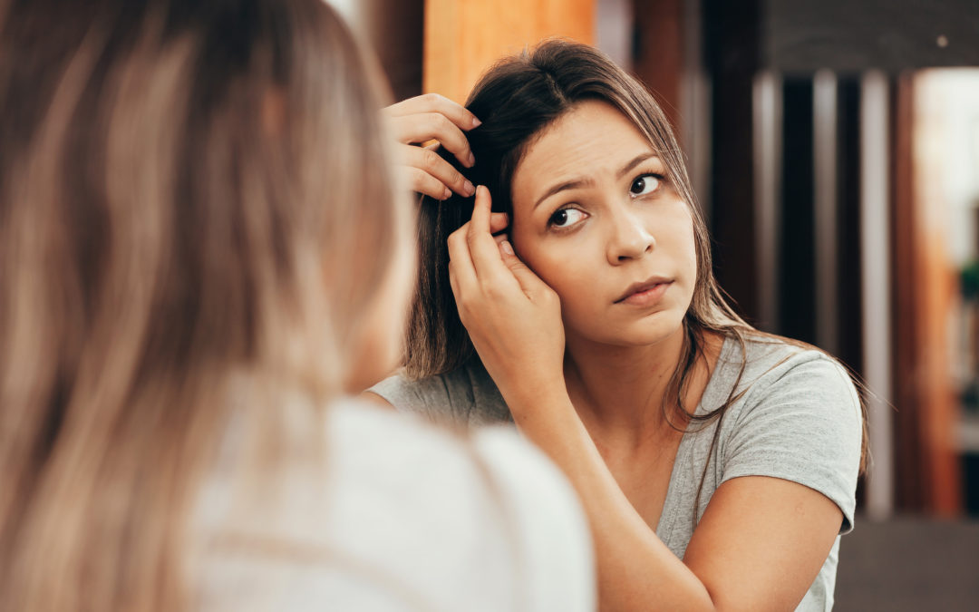
{"type": "Polygon", "coordinates": [[[742,410],[730,415],[722,482],[770,476],[805,485],[839,506],[840,534],[848,533],[862,447],[857,391],[845,370],[821,354],[798,358],[773,378],[759,380],[742,410]]]}

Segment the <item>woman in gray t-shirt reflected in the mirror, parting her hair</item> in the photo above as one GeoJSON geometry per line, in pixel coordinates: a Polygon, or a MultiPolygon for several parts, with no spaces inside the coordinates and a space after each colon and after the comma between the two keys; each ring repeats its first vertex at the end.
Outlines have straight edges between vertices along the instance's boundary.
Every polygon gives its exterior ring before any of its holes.
{"type": "Polygon", "coordinates": [[[549,41],[490,69],[465,113],[429,97],[390,114],[402,146],[444,151],[408,168],[420,284],[406,372],[374,393],[512,418],[582,498],[603,609],[828,610],[861,402],[831,357],[726,304],[649,93],[549,41]],[[486,187],[469,200],[465,181],[486,187]]]}

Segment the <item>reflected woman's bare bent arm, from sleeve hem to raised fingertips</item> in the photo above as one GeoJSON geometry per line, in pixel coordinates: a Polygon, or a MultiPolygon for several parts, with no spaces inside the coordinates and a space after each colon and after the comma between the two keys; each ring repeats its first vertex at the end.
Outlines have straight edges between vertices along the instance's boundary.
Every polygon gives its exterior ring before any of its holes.
{"type": "Polygon", "coordinates": [[[785,480],[730,480],[677,559],[629,503],[578,417],[562,374],[557,296],[507,245],[497,248],[485,188],[472,221],[449,238],[449,253],[460,316],[517,426],[582,498],[603,609],[793,609],[836,538],[836,504],[785,480]]]}

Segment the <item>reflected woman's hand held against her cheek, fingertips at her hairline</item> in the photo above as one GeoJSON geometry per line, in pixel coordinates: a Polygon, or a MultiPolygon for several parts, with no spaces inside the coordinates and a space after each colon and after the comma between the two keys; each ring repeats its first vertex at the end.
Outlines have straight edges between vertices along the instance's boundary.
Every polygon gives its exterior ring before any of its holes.
{"type": "Polygon", "coordinates": [[[448,279],[459,317],[503,399],[514,409],[541,392],[565,392],[561,302],[505,239],[502,213],[490,213],[479,186],[473,217],[448,237],[448,279]]]}

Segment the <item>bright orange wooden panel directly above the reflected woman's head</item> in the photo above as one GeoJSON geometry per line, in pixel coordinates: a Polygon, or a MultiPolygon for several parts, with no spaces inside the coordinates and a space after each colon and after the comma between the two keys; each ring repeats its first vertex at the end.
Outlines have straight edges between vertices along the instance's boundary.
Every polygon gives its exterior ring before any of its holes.
{"type": "Polygon", "coordinates": [[[550,36],[593,44],[595,0],[426,0],[422,87],[463,103],[493,62],[550,36]]]}

